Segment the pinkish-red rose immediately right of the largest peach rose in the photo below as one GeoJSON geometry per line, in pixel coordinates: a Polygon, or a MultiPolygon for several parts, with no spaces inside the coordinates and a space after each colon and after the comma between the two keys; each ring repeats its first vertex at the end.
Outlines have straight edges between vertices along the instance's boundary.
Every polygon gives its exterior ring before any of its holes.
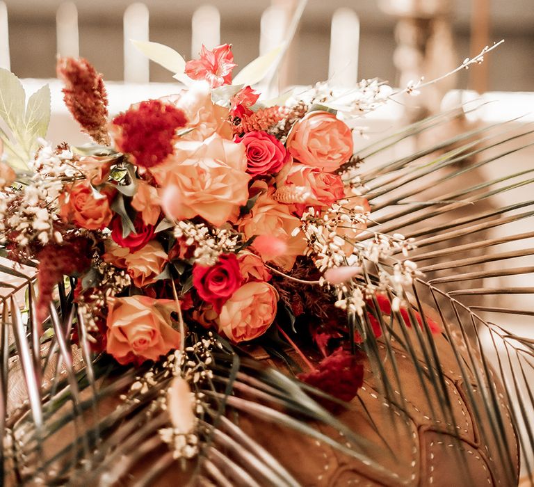
{"type": "Polygon", "coordinates": [[[245,145],[247,173],[253,176],[278,173],[291,158],[286,147],[266,132],[248,132],[234,138],[234,142],[245,145]]]}

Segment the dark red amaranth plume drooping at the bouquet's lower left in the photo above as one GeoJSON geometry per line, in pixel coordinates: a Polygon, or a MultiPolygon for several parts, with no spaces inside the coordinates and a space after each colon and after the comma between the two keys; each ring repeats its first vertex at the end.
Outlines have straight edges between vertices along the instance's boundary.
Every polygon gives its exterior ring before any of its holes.
{"type": "Polygon", "coordinates": [[[91,264],[92,242],[85,237],[73,237],[63,244],[48,244],[37,255],[39,298],[37,321],[41,324],[47,317],[54,286],[63,276],[77,275],[91,264]]]}

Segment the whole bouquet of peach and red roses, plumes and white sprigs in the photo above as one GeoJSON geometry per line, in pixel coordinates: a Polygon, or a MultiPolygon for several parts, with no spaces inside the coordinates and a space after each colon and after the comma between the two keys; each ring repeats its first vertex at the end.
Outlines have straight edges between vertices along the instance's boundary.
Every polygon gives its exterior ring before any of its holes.
{"type": "Polygon", "coordinates": [[[94,141],[83,147],[45,141],[47,88],[25,108],[2,72],[13,106],[1,112],[12,134],[2,134],[0,230],[10,259],[38,263],[39,324],[50,326],[54,289],[70,276],[83,324],[74,342],[83,333],[120,365],[154,362],[175,377],[163,399],[172,427],[161,430],[175,456],[198,452],[202,398],[191,399],[191,384],[209,379],[210,350],[223,342],[292,348],[300,380],[350,401],[362,385],[360,344],[384,333],[382,315],[440,333],[406,300],[416,264],[390,259],[409,257],[414,241],[368,229],[351,127],[394,94],[389,86],[318,83],[266,100],[251,86],[277,53],[232,82],[229,45],[187,63],[139,47],[186,88],[111,121],[102,77],[85,60],[58,61],[65,103],[94,141]]]}

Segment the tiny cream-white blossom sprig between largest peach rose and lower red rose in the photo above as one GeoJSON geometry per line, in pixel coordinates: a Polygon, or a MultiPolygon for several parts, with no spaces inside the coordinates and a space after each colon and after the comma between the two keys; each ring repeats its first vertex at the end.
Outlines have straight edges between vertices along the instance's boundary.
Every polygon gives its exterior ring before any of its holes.
{"type": "Polygon", "coordinates": [[[177,222],[174,234],[177,239],[185,239],[186,246],[195,247],[195,262],[203,266],[213,266],[220,254],[234,252],[240,238],[232,230],[185,220],[177,222]]]}

